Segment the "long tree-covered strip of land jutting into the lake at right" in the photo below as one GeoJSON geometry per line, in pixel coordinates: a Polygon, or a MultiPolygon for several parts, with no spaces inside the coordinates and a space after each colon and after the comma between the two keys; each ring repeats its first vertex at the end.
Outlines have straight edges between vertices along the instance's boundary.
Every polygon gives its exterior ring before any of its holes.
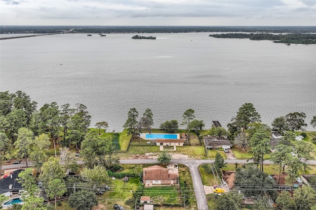
{"type": "Polygon", "coordinates": [[[316,44],[316,34],[313,33],[222,33],[210,34],[215,38],[249,38],[250,40],[273,40],[275,43],[316,44]]]}

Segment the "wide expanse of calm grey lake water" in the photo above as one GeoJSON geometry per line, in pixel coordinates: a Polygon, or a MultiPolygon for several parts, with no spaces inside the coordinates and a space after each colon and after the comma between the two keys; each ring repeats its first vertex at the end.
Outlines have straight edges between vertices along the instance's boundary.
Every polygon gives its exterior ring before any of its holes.
{"type": "Polygon", "coordinates": [[[82,103],[109,131],[130,108],[154,114],[154,127],[195,110],[205,129],[226,127],[244,103],[263,123],[291,112],[316,115],[316,45],[218,39],[210,33],[58,34],[0,41],[0,91],[25,91],[39,103],[82,103]]]}

